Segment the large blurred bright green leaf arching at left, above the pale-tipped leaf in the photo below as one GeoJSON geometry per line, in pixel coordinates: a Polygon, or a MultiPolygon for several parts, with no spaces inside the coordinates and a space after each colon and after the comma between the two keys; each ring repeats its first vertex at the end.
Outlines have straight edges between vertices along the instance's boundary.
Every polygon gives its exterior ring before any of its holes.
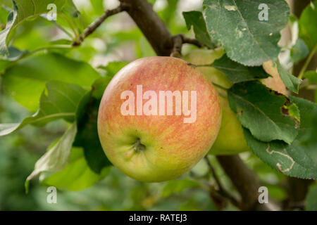
{"type": "Polygon", "coordinates": [[[34,112],[46,82],[61,81],[90,89],[100,77],[88,63],[58,53],[38,53],[19,60],[3,75],[4,93],[34,112]]]}

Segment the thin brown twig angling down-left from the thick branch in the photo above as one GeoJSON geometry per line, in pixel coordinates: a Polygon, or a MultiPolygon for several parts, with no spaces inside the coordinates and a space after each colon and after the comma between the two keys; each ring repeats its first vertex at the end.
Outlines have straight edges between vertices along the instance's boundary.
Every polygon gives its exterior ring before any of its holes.
{"type": "Polygon", "coordinates": [[[90,24],[84,30],[84,32],[82,32],[82,34],[80,34],[79,40],[74,41],[73,42],[73,46],[79,46],[86,37],[88,37],[90,34],[92,34],[95,30],[97,30],[97,28],[102,23],[104,23],[104,20],[106,20],[106,18],[110,17],[111,15],[115,15],[115,14],[121,13],[121,12],[127,10],[127,9],[128,9],[128,5],[127,4],[120,4],[120,6],[118,6],[117,8],[113,8],[113,9],[105,11],[104,14],[101,15],[101,17],[99,17],[92,24],[90,24]]]}

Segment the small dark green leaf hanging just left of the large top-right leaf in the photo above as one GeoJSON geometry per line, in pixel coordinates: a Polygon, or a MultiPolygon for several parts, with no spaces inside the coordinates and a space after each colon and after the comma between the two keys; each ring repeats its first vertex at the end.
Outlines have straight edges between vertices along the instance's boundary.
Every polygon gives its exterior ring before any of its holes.
{"type": "Polygon", "coordinates": [[[182,12],[182,15],[185,18],[187,30],[190,30],[193,27],[196,39],[213,49],[215,45],[207,32],[206,23],[202,13],[199,11],[189,11],[182,12]]]}

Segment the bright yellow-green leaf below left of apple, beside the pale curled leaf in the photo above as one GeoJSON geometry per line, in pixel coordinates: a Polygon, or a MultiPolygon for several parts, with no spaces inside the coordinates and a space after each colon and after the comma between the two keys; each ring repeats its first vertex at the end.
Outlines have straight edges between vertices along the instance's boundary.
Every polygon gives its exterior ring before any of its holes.
{"type": "Polygon", "coordinates": [[[60,172],[45,176],[42,184],[68,191],[89,188],[110,173],[111,167],[104,168],[100,174],[94,173],[85,160],[82,148],[72,148],[68,165],[60,172]]]}

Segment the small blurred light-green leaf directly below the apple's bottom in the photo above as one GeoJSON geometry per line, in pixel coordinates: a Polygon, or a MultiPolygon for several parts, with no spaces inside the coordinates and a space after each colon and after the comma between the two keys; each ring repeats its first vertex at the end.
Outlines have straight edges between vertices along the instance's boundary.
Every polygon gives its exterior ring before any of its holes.
{"type": "Polygon", "coordinates": [[[199,188],[201,185],[198,181],[192,179],[182,179],[168,181],[166,186],[164,186],[162,191],[162,197],[166,198],[173,193],[180,193],[185,191],[187,188],[199,188]]]}

